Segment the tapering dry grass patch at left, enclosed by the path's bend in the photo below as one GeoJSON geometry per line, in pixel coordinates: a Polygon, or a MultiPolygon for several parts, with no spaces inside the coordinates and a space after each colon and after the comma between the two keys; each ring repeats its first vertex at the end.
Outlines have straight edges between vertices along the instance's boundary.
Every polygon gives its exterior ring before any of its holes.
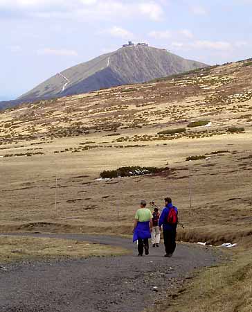
{"type": "Polygon", "coordinates": [[[0,236],[0,263],[59,258],[118,256],[127,250],[64,239],[0,236]]]}

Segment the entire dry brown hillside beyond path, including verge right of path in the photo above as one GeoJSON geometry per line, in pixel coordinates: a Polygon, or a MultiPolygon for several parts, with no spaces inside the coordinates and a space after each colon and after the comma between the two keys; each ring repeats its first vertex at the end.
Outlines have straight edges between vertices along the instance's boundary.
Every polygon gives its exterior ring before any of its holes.
{"type": "MultiPolygon", "coordinates": [[[[252,72],[244,64],[132,86],[137,92],[116,87],[1,112],[0,156],[37,146],[44,154],[0,159],[0,230],[129,234],[141,198],[163,205],[170,196],[186,225],[178,239],[251,248],[252,72]],[[201,120],[211,127],[157,135],[201,120]],[[245,132],[227,133],[232,127],[245,132]],[[217,150],[230,153],[211,155],[217,150]],[[193,155],[210,159],[185,162],[193,155]],[[120,166],[174,172],[96,181],[101,171],[120,166]]],[[[177,306],[160,311],[251,311],[250,259],[249,249],[230,265],[203,272],[177,306]]]]}

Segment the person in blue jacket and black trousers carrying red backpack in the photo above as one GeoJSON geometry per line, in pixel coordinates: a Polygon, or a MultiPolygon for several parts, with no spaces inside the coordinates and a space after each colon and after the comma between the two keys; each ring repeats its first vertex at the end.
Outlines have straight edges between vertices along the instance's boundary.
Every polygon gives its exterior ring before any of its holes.
{"type": "Polygon", "coordinates": [[[176,234],[178,224],[178,209],[172,205],[171,198],[165,198],[165,207],[159,218],[159,229],[163,227],[163,240],[165,243],[165,257],[172,257],[176,249],[176,234]]]}

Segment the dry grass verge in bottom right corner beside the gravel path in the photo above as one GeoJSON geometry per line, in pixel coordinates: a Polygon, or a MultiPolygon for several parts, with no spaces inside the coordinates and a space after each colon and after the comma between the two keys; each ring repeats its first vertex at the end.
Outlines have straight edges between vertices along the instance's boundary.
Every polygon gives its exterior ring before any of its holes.
{"type": "Polygon", "coordinates": [[[208,268],[186,288],[146,312],[251,312],[252,251],[240,251],[226,265],[208,268]],[[173,300],[172,300],[173,298],[173,300]]]}

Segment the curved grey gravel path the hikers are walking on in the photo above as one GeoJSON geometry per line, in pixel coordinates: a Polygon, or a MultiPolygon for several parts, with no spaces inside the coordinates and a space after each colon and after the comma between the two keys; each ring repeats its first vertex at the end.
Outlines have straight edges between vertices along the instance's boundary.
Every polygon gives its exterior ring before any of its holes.
{"type": "Polygon", "coordinates": [[[1,312],[141,312],[195,268],[217,261],[210,249],[197,245],[179,244],[172,258],[163,257],[162,244],[150,248],[149,256],[136,257],[136,245],[116,236],[14,235],[102,243],[127,248],[132,254],[0,268],[1,312]]]}

